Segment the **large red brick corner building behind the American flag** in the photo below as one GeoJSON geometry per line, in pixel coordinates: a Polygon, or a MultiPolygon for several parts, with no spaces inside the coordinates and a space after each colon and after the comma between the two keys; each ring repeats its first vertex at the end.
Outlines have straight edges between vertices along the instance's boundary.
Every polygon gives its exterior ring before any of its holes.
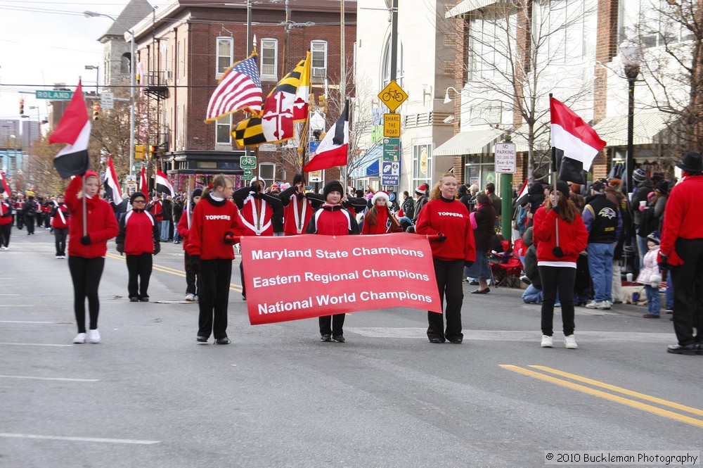
{"type": "MultiPolygon", "coordinates": [[[[356,3],[345,2],[344,42],[351,63],[356,40],[356,3]]],[[[259,72],[266,96],[283,76],[312,53],[312,93],[340,102],[340,3],[333,0],[254,2],[250,16],[252,38],[257,41],[259,72]]],[[[138,85],[148,96],[148,129],[139,125],[136,144],[157,147],[156,163],[167,172],[174,187],[206,184],[213,175],[236,175],[242,183],[240,157],[231,137],[231,125],[242,112],[205,124],[205,110],[222,73],[247,58],[245,4],[213,4],[207,0],[179,1],[155,11],[134,27],[138,85]]],[[[127,37],[126,39],[129,39],[127,37]]],[[[353,89],[347,77],[347,96],[353,89]]],[[[315,106],[311,102],[311,110],[315,106]]],[[[330,105],[328,125],[337,118],[330,105]]],[[[297,144],[297,142],[296,142],[297,144]]],[[[263,145],[257,156],[260,177],[267,182],[290,180],[297,167],[291,145],[263,145]]],[[[328,170],[327,178],[339,177],[328,170]]]]}

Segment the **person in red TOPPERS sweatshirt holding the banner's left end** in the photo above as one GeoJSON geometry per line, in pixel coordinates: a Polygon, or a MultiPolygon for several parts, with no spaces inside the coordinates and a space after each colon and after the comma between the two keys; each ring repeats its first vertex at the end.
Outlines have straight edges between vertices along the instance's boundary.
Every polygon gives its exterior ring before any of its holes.
{"type": "Polygon", "coordinates": [[[211,333],[215,343],[231,343],[227,337],[227,303],[233,245],[245,232],[239,210],[230,200],[233,191],[234,181],[226,175],[217,175],[193,208],[191,229],[188,229],[186,251],[201,282],[196,336],[200,343],[207,343],[211,333]]]}

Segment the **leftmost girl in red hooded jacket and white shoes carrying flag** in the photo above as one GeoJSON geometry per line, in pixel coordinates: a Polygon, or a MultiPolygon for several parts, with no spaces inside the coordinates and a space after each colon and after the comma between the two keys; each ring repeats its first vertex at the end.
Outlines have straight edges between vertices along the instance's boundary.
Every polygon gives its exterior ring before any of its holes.
{"type": "Polygon", "coordinates": [[[83,177],[73,178],[66,189],[65,203],[73,222],[69,227],[68,269],[73,280],[73,308],[78,334],[74,343],[86,342],[86,308],[90,315],[89,341],[100,343],[98,331],[98,286],[105,267],[108,240],[117,235],[117,220],[110,203],[102,200],[100,179],[89,170],[83,177]],[[83,181],[85,180],[85,186],[83,181]],[[83,229],[83,198],[86,207],[86,230],[83,229]]]}

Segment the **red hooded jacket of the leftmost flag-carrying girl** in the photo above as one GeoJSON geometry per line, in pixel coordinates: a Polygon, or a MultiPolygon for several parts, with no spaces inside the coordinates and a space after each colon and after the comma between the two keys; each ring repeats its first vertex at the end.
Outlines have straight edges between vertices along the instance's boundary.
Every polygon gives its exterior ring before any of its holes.
{"type": "MultiPolygon", "coordinates": [[[[87,175],[96,175],[93,171],[86,172],[87,175]]],[[[65,203],[68,212],[73,218],[68,229],[68,255],[82,258],[104,257],[108,251],[108,240],[117,236],[117,219],[112,211],[110,203],[99,198],[86,197],[87,213],[87,234],[91,243],[87,246],[81,244],[83,232],[83,200],[78,198],[78,193],[83,187],[83,178],[76,176],[66,188],[65,203]]]]}

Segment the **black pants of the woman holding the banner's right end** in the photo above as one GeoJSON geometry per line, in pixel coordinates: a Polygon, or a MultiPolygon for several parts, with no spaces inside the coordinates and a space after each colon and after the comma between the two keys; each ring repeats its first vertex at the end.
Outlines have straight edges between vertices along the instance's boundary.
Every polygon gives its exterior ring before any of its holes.
{"type": "Polygon", "coordinates": [[[461,288],[462,275],[464,273],[464,260],[438,260],[434,258],[434,276],[437,277],[437,289],[439,290],[439,301],[446,316],[446,331],[444,329],[444,317],[437,312],[427,311],[427,336],[430,339],[444,338],[455,340],[463,339],[461,333],[461,303],[464,301],[464,291],[461,288]],[[446,300],[446,308],[444,302],[446,300]]]}

